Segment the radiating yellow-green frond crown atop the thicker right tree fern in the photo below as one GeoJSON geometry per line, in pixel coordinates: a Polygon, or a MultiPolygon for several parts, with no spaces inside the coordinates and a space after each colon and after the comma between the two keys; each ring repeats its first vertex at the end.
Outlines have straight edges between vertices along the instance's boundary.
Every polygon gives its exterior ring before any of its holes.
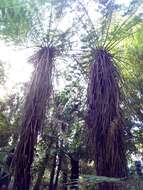
{"type": "Polygon", "coordinates": [[[86,35],[81,35],[83,46],[86,44],[92,49],[104,47],[110,51],[114,50],[123,40],[131,37],[138,30],[138,25],[142,23],[142,20],[137,10],[142,3],[143,1],[134,2],[132,11],[123,14],[125,10],[123,11],[115,4],[115,1],[110,1],[97,9],[100,18],[96,23],[93,22],[96,15],[93,15],[93,18],[89,16],[86,6],[80,3],[84,16],[77,20],[83,25],[86,33],[86,35]],[[88,29],[85,27],[86,25],[88,25],[88,29]]]}

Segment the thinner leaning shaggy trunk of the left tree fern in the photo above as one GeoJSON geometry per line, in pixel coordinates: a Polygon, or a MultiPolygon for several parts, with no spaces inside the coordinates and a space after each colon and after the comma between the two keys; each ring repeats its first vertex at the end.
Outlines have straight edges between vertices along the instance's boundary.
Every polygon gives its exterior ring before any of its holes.
{"type": "Polygon", "coordinates": [[[25,103],[20,138],[13,161],[13,190],[29,190],[34,146],[51,94],[53,49],[41,48],[31,60],[35,65],[35,72],[25,103]]]}

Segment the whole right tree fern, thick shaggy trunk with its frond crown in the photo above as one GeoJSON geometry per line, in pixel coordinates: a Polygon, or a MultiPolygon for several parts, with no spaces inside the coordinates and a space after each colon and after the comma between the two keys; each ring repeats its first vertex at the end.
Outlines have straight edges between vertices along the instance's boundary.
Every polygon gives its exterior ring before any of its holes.
{"type": "MultiPolygon", "coordinates": [[[[137,17],[128,16],[121,24],[116,20],[118,24],[114,25],[112,18],[117,8],[112,1],[108,5],[103,5],[103,20],[98,28],[94,26],[88,9],[81,1],[78,7],[87,17],[87,20],[85,17],[79,18],[87,32],[87,38],[83,39],[83,42],[88,43],[88,47],[91,48],[91,53],[88,53],[86,59],[87,57],[89,59],[89,56],[92,57],[87,93],[88,143],[94,153],[97,175],[109,177],[127,176],[125,125],[120,108],[121,83],[115,63],[119,42],[128,38],[129,34],[133,34],[133,28],[136,28],[140,20],[137,17]],[[115,55],[112,53],[114,51],[115,55]]],[[[120,188],[114,184],[99,185],[100,190],[120,188]]]]}

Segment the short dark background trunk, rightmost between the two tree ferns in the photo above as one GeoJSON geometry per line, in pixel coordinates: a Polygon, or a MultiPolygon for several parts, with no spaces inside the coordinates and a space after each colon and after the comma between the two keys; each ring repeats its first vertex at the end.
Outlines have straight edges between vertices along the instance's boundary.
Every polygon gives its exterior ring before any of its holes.
{"type": "Polygon", "coordinates": [[[79,160],[71,158],[71,190],[78,190],[79,160]]]}

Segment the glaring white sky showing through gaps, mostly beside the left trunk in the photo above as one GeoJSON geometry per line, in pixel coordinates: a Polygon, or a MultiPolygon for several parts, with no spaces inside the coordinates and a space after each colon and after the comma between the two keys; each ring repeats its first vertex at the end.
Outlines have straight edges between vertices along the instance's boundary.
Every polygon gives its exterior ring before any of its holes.
{"type": "MultiPolygon", "coordinates": [[[[128,5],[130,0],[116,0],[120,4],[128,5]]],[[[94,14],[93,4],[89,3],[91,14],[94,14]]],[[[67,26],[68,22],[64,20],[62,27],[67,26]]],[[[0,41],[0,60],[5,63],[7,71],[7,82],[0,86],[0,98],[5,98],[11,94],[15,85],[27,82],[30,79],[32,65],[28,64],[28,57],[32,55],[32,49],[16,49],[13,46],[7,46],[4,41],[0,41]]],[[[62,86],[62,82],[60,83],[62,86]]]]}

